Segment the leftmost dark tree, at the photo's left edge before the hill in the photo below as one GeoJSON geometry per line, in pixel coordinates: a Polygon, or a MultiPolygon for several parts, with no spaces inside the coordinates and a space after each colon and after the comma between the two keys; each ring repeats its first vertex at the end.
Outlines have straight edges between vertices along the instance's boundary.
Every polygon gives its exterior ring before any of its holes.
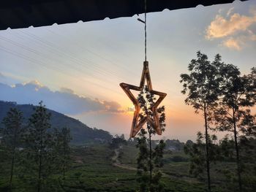
{"type": "Polygon", "coordinates": [[[16,150],[20,146],[21,137],[24,133],[23,115],[16,108],[11,108],[7,116],[3,119],[4,128],[2,130],[3,143],[10,151],[11,169],[10,169],[10,190],[12,191],[12,176],[14,174],[16,150]]]}

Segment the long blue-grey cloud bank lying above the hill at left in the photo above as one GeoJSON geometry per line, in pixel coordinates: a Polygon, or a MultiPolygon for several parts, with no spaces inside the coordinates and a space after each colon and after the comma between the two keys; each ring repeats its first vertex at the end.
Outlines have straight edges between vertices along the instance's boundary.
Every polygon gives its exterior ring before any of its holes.
{"type": "Polygon", "coordinates": [[[99,101],[78,96],[69,88],[51,91],[37,80],[12,86],[0,83],[0,100],[17,101],[18,104],[38,104],[42,100],[51,110],[67,115],[85,112],[124,112],[116,101],[99,101]]]}

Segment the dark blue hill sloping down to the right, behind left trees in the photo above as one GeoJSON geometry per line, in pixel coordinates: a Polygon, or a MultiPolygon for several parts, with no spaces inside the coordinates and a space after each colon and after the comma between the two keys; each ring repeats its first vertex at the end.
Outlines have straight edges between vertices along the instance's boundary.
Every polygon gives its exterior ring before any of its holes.
{"type": "MultiPolygon", "coordinates": [[[[0,122],[7,115],[10,108],[18,108],[23,112],[25,123],[28,121],[31,114],[34,113],[34,105],[32,104],[17,104],[16,102],[0,101],[0,122]]],[[[112,136],[108,131],[102,129],[90,128],[79,120],[70,118],[60,112],[48,110],[51,114],[50,123],[53,128],[62,128],[64,126],[70,128],[73,145],[82,145],[96,141],[110,141],[112,136]]],[[[0,123],[0,128],[2,124],[0,123]]]]}

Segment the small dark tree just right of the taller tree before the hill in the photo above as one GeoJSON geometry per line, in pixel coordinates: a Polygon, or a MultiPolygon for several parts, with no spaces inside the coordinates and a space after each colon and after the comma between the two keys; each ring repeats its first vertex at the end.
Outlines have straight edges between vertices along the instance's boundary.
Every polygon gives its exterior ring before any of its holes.
{"type": "Polygon", "coordinates": [[[57,167],[61,169],[63,178],[65,178],[67,169],[70,164],[70,147],[69,143],[71,141],[71,136],[70,136],[70,129],[67,127],[59,129],[55,129],[54,131],[54,145],[55,145],[55,150],[56,150],[56,162],[57,162],[57,167]]]}

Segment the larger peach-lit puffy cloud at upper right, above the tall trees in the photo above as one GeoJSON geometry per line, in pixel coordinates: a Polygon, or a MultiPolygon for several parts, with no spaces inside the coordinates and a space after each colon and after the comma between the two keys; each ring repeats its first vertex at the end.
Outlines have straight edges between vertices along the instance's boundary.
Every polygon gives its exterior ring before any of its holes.
{"type": "Polygon", "coordinates": [[[206,29],[206,39],[227,37],[238,31],[246,31],[247,28],[255,22],[256,15],[248,17],[235,13],[230,16],[230,19],[226,19],[222,15],[217,15],[206,29]]]}

